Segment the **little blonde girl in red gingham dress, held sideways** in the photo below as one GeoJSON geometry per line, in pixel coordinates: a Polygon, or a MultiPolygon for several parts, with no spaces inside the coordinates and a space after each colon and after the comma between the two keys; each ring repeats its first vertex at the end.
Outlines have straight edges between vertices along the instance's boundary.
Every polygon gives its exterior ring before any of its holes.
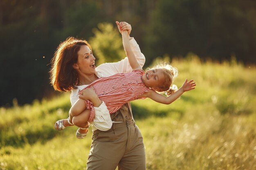
{"type": "MultiPolygon", "coordinates": [[[[126,56],[133,71],[118,73],[110,77],[101,77],[84,88],[94,89],[99,99],[106,104],[110,114],[115,113],[123,104],[129,101],[145,99],[146,97],[162,104],[171,104],[185,91],[195,88],[195,82],[186,79],[179,90],[173,89],[171,85],[173,79],[177,77],[178,71],[177,68],[168,64],[159,64],[145,73],[132,53],[128,43],[127,31],[122,32],[122,38],[126,56]],[[168,97],[156,91],[166,91],[168,97]]],[[[83,94],[83,90],[79,92],[79,99],[71,107],[70,113],[72,116],[77,116],[86,109],[88,119],[84,121],[92,122],[94,119],[93,103],[88,100],[88,96],[83,94]]],[[[76,137],[79,139],[86,135],[87,133],[81,134],[78,131],[76,132],[76,137]]]]}

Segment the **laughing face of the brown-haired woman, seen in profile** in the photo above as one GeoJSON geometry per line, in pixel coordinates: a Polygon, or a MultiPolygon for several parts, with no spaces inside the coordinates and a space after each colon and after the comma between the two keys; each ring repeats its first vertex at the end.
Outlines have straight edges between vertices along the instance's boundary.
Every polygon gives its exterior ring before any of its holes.
{"type": "Polygon", "coordinates": [[[73,67],[77,70],[78,74],[92,75],[95,71],[95,57],[92,55],[92,51],[87,45],[82,45],[77,52],[77,63],[73,67]]]}

